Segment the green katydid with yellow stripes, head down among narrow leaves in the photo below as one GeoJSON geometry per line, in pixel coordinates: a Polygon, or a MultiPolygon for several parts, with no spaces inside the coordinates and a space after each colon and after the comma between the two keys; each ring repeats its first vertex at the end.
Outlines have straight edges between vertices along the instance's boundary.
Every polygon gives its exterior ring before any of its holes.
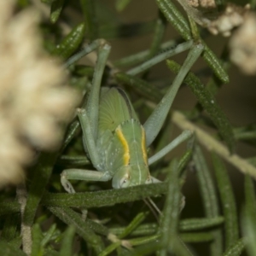
{"type": "MultiPolygon", "coordinates": [[[[96,45],[96,44],[95,44],[96,45]]],[[[91,46],[90,46],[91,48],[91,46]]],[[[141,125],[124,90],[101,88],[102,73],[108,59],[110,46],[101,43],[88,102],[78,110],[83,131],[85,153],[96,171],[68,169],[61,173],[61,183],[69,193],[75,193],[68,180],[108,181],[112,179],[114,189],[145,183],[157,183],[148,166],[159,160],[178,143],[188,139],[192,132],[183,131],[172,143],[148,159],[147,147],[166,119],[179,86],[194,62],[201,55],[203,46],[194,44],[183,67],[174,79],[166,95],[154,108],[144,125],[141,125]]]]}

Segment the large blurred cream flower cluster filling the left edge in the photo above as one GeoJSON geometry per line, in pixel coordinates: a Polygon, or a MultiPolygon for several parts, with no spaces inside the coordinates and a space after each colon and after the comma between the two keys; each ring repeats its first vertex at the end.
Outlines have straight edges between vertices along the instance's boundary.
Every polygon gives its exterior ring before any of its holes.
{"type": "Polygon", "coordinates": [[[33,148],[61,142],[61,124],[73,114],[77,93],[57,61],[41,48],[38,13],[13,15],[14,1],[0,1],[0,187],[17,183],[33,148]]]}

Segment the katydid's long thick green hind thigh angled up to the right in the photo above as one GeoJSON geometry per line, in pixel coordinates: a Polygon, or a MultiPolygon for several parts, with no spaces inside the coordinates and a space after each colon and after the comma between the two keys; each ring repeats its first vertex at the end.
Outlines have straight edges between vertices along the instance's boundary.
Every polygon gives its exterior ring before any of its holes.
{"type": "Polygon", "coordinates": [[[204,47],[202,44],[195,44],[189,50],[189,55],[184,61],[179,73],[177,73],[177,76],[174,79],[172,86],[166,91],[166,95],[162,98],[156,108],[154,108],[154,112],[149,116],[149,118],[143,125],[147,135],[147,147],[154,142],[155,137],[157,137],[157,135],[159,134],[160,129],[166,119],[166,116],[172,106],[174,97],[177,94],[177,90],[183,83],[183,79],[186,77],[187,73],[189,73],[190,68],[201,55],[203,48],[204,47]]]}

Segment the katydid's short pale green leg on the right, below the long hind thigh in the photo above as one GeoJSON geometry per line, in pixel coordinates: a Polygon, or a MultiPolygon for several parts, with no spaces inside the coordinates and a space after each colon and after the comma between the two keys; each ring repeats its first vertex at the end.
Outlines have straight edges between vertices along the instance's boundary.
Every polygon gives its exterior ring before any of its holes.
{"type": "Polygon", "coordinates": [[[160,158],[164,157],[168,154],[173,148],[176,148],[177,145],[183,143],[183,141],[187,140],[189,137],[193,135],[193,131],[185,130],[180,134],[176,139],[166,145],[165,148],[162,148],[159,152],[154,154],[148,159],[148,166],[152,165],[155,161],[160,160],[160,158]]]}

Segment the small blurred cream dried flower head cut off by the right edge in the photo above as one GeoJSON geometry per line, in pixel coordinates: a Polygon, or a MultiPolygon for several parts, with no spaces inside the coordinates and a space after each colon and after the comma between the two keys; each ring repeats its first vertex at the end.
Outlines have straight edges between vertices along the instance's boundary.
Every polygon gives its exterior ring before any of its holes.
{"type": "Polygon", "coordinates": [[[244,23],[230,38],[230,60],[241,71],[252,75],[256,73],[256,15],[248,13],[244,23]]]}

